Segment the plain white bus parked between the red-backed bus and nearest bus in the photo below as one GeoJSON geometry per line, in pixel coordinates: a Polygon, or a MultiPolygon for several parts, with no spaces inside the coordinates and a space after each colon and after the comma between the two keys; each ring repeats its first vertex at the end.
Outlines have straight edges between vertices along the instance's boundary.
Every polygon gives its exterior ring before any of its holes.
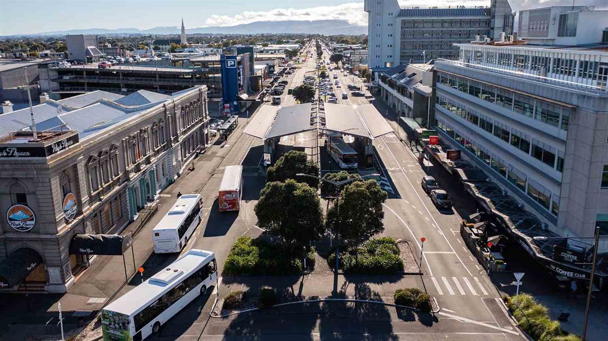
{"type": "Polygon", "coordinates": [[[184,194],[152,230],[154,253],[179,252],[201,223],[202,199],[199,194],[184,194]]]}

